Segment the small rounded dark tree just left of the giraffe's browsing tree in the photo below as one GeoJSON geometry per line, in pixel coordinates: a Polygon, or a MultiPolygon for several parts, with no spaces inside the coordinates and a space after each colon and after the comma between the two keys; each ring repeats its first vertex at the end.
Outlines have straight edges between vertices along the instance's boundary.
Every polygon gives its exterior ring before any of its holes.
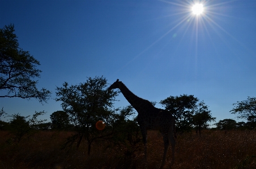
{"type": "Polygon", "coordinates": [[[52,129],[66,129],[69,127],[69,115],[65,111],[55,111],[50,115],[52,129]]]}

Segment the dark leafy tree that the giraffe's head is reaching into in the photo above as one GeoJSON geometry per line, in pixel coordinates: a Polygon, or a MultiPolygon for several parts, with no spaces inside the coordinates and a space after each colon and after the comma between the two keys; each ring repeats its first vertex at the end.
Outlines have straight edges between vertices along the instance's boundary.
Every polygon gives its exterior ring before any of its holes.
{"type": "MultiPolygon", "coordinates": [[[[88,77],[86,83],[71,85],[63,83],[57,87],[56,101],[61,101],[62,108],[69,115],[69,120],[74,125],[76,134],[67,140],[67,144],[73,144],[78,140],[76,148],[79,147],[83,138],[88,144],[88,154],[91,151],[93,141],[108,138],[113,132],[97,131],[95,124],[99,120],[112,123],[113,101],[118,92],[108,91],[107,80],[104,77],[88,77]]],[[[106,131],[111,126],[106,126],[106,131]]],[[[111,131],[111,129],[110,129],[111,131]]]]}

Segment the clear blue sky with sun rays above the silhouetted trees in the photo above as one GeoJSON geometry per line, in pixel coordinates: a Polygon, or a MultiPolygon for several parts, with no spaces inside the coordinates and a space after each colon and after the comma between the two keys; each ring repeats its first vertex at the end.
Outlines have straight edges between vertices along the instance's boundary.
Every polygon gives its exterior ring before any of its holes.
{"type": "MultiPolygon", "coordinates": [[[[15,25],[20,47],[41,63],[38,88],[53,94],[44,105],[0,98],[0,107],[49,119],[62,110],[56,86],[104,76],[149,101],[192,94],[217,122],[234,119],[232,104],[256,97],[256,1],[202,0],[200,15],[195,2],[1,0],[0,27],[15,25]]],[[[118,99],[115,107],[129,105],[118,99]]]]}

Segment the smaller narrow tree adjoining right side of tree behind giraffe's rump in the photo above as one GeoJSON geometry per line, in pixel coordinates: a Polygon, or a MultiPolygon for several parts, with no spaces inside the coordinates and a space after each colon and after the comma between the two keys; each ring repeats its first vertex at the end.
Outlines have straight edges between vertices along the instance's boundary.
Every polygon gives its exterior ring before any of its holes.
{"type": "Polygon", "coordinates": [[[216,118],[212,118],[210,112],[208,106],[205,105],[203,101],[198,104],[195,114],[193,115],[193,124],[197,131],[199,131],[199,134],[201,133],[201,129],[208,127],[209,124],[207,124],[207,122],[215,122],[216,118]]]}

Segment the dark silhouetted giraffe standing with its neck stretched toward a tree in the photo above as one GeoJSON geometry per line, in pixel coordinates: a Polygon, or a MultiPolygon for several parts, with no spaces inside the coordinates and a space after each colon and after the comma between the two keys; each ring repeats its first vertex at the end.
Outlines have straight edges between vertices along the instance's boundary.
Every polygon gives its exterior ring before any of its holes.
{"type": "MultiPolygon", "coordinates": [[[[150,101],[140,98],[133,94],[122,81],[115,81],[109,86],[108,90],[120,89],[123,96],[138,112],[138,124],[140,131],[142,132],[142,138],[144,143],[144,157],[147,162],[147,130],[159,130],[164,137],[164,156],[161,163],[161,167],[164,167],[165,158],[169,146],[169,141],[172,145],[172,163],[174,162],[174,148],[175,148],[175,121],[170,111],[158,109],[152,105],[150,101]]],[[[177,137],[176,137],[177,138],[177,137]]]]}

